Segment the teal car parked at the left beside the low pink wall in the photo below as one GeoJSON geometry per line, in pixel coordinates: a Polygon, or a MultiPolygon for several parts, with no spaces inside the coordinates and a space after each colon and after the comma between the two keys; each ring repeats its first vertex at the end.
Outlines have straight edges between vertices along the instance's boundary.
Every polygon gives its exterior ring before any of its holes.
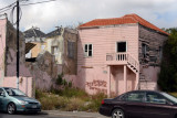
{"type": "Polygon", "coordinates": [[[0,87],[0,110],[8,114],[17,111],[41,111],[41,103],[28,97],[17,88],[0,87]]]}

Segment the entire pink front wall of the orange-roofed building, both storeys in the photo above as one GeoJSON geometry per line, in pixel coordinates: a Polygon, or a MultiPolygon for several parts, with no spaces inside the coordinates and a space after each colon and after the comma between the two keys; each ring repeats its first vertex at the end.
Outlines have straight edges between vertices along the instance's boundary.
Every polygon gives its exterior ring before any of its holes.
{"type": "MultiPolygon", "coordinates": [[[[116,42],[126,41],[127,52],[138,60],[138,25],[123,24],[100,29],[83,29],[79,31],[79,35],[77,86],[90,94],[95,94],[96,92],[107,94],[108,90],[113,94],[122,94],[124,92],[124,69],[122,67],[112,67],[112,65],[110,79],[106,53],[116,53],[116,42]],[[84,44],[93,44],[92,57],[84,57],[84,44]]],[[[135,86],[135,74],[129,72],[127,71],[127,90],[133,89],[135,86]]]]}

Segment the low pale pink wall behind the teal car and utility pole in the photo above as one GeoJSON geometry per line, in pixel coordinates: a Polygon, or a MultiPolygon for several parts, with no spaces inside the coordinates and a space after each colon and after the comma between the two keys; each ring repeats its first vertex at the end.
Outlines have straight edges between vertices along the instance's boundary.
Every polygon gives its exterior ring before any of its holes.
{"type": "MultiPolygon", "coordinates": [[[[4,77],[3,87],[17,88],[17,77],[4,77]]],[[[32,97],[32,77],[19,77],[19,89],[32,97]]]]}

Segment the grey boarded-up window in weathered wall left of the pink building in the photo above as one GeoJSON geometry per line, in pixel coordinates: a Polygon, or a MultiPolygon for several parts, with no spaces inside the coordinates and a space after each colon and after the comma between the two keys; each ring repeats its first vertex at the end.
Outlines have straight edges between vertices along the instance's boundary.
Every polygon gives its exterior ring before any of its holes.
{"type": "Polygon", "coordinates": [[[70,58],[74,58],[74,52],[75,52],[75,42],[67,41],[67,56],[70,58]]]}

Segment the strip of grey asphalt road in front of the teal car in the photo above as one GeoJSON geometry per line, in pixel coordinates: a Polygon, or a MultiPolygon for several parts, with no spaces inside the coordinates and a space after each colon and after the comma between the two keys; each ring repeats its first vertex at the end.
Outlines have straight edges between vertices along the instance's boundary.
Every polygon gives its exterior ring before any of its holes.
{"type": "Polygon", "coordinates": [[[46,114],[17,114],[17,115],[8,115],[4,112],[0,112],[0,118],[71,118],[71,117],[59,117],[59,116],[51,116],[46,114]]]}

